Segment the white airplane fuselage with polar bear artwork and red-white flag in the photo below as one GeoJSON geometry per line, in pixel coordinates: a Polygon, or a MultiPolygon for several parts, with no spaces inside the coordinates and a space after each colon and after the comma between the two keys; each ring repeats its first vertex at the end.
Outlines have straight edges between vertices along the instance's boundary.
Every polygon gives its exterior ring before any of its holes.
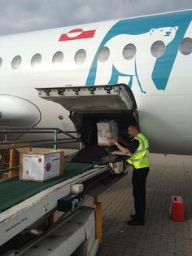
{"type": "Polygon", "coordinates": [[[68,112],[35,88],[125,83],[151,152],[191,154],[191,20],[180,11],[0,37],[0,126],[72,130],[68,112]],[[53,64],[56,52],[63,61],[53,64]]]}

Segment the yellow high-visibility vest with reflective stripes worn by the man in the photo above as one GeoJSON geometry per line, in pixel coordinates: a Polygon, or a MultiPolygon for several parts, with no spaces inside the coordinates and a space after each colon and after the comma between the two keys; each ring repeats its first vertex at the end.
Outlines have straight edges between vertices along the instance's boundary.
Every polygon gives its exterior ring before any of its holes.
{"type": "Polygon", "coordinates": [[[136,152],[131,153],[131,156],[127,161],[130,165],[133,165],[135,169],[150,167],[148,139],[141,133],[134,139],[138,140],[139,146],[136,152]]]}

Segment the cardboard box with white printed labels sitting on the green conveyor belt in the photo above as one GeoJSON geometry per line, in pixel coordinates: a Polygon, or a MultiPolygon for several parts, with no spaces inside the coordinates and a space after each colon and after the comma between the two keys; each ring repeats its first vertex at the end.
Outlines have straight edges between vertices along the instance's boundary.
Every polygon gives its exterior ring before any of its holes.
{"type": "Polygon", "coordinates": [[[20,153],[20,179],[45,181],[63,175],[62,150],[20,153]]]}

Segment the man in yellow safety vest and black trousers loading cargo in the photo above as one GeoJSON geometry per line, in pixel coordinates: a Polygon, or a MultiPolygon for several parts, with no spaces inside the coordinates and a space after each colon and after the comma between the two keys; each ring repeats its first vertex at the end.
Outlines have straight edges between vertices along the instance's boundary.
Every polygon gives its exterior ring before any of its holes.
{"type": "Polygon", "coordinates": [[[137,126],[129,126],[128,134],[133,138],[126,148],[114,138],[108,138],[111,144],[116,145],[117,148],[124,155],[130,153],[130,158],[127,160],[133,166],[133,197],[135,214],[131,214],[132,220],[128,221],[131,226],[144,225],[144,217],[146,210],[146,177],[150,170],[149,162],[149,142],[142,133],[139,132],[137,126]]]}

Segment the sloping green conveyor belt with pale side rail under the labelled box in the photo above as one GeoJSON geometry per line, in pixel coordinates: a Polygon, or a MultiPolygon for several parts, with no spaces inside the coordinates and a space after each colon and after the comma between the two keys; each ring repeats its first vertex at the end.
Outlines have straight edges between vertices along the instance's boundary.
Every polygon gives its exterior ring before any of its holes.
{"type": "MultiPolygon", "coordinates": [[[[25,186],[25,192],[22,186],[16,187],[22,191],[20,198],[17,197],[17,191],[12,190],[9,192],[12,195],[11,204],[15,201],[15,205],[11,205],[8,202],[6,191],[1,191],[0,198],[2,199],[3,196],[5,198],[4,204],[2,204],[4,208],[2,207],[3,211],[0,213],[0,246],[24,231],[25,228],[35,223],[45,214],[48,214],[51,210],[54,210],[57,207],[58,200],[70,194],[72,184],[89,182],[90,179],[108,170],[110,170],[108,165],[94,166],[68,162],[65,164],[65,174],[63,177],[46,181],[45,183],[24,182],[18,179],[2,182],[0,189],[2,188],[2,184],[3,186],[7,184],[4,186],[4,188],[7,187],[7,192],[11,190],[13,183],[17,183],[17,185],[25,183],[27,186],[25,186]],[[11,186],[9,186],[9,183],[11,183],[11,186]],[[28,194],[29,185],[33,188],[33,195],[28,194]],[[11,207],[5,210],[7,205],[11,205],[11,207]]],[[[9,200],[11,200],[10,196],[9,200]]]]}

